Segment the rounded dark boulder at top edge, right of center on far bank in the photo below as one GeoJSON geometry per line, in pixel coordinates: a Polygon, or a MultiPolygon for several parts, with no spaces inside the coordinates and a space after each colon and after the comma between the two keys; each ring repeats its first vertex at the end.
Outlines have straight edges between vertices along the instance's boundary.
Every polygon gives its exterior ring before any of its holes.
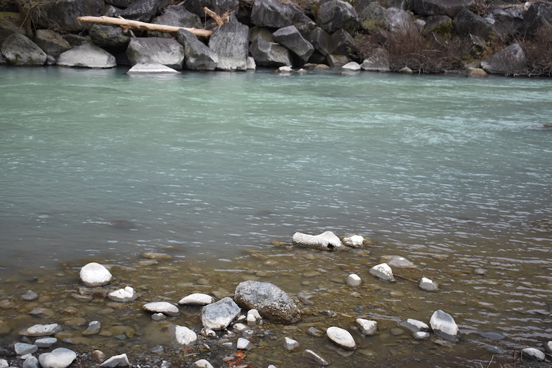
{"type": "Polygon", "coordinates": [[[329,0],[322,3],[315,19],[317,25],[328,33],[333,33],[339,28],[354,32],[359,27],[355,8],[342,0],[329,0]]]}

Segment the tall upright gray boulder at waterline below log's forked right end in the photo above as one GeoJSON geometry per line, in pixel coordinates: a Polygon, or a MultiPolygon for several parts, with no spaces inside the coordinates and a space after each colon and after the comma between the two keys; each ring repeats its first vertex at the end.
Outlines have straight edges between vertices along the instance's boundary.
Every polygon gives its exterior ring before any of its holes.
{"type": "Polygon", "coordinates": [[[248,26],[232,21],[218,27],[209,39],[209,47],[219,57],[217,69],[247,70],[248,26]]]}

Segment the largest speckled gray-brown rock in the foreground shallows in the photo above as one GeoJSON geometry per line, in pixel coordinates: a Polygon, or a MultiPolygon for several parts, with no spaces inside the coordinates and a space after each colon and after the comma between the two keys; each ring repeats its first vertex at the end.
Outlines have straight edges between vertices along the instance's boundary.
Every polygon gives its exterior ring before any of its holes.
{"type": "Polygon", "coordinates": [[[236,287],[234,298],[240,306],[257,309],[271,322],[295,323],[301,318],[299,308],[290,296],[270,282],[241,282],[236,287]]]}

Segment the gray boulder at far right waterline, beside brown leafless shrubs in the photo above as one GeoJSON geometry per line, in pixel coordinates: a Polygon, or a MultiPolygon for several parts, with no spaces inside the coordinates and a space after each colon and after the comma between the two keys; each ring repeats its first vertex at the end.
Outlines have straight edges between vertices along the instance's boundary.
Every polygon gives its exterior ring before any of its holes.
{"type": "Polygon", "coordinates": [[[491,74],[522,74],[527,68],[525,52],[518,43],[512,43],[507,48],[481,61],[481,68],[491,74]]]}

